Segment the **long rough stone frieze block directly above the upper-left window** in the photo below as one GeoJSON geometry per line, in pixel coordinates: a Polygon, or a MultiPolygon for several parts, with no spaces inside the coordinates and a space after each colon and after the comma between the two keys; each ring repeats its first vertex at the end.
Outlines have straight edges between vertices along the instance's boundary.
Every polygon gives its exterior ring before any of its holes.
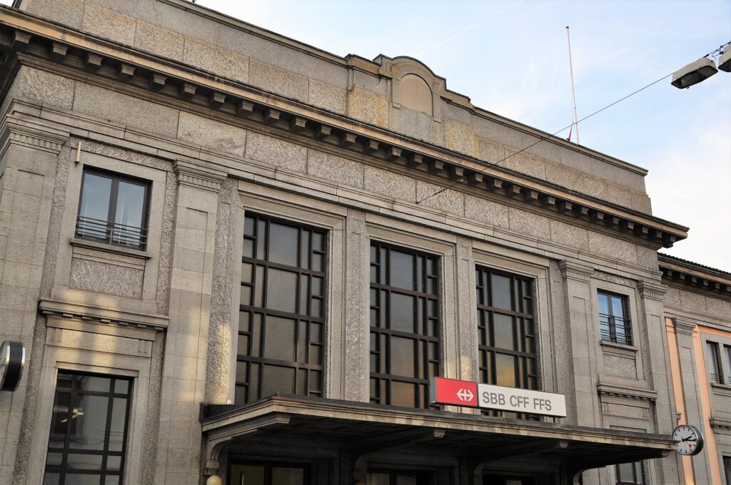
{"type": "Polygon", "coordinates": [[[85,83],[77,83],[74,110],[172,137],[178,131],[178,110],[85,83]]]}

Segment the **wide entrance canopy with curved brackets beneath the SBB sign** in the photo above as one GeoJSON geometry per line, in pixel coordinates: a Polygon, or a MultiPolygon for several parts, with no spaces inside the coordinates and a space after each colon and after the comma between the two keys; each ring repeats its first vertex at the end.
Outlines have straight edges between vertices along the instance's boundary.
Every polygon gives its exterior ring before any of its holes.
{"type": "Polygon", "coordinates": [[[207,405],[201,422],[206,475],[218,473],[228,443],[260,439],[344,448],[356,457],[354,483],[366,473],[368,454],[404,446],[465,459],[476,476],[486,463],[515,457],[550,460],[573,477],[673,450],[664,435],[279,394],[249,405],[207,405]]]}

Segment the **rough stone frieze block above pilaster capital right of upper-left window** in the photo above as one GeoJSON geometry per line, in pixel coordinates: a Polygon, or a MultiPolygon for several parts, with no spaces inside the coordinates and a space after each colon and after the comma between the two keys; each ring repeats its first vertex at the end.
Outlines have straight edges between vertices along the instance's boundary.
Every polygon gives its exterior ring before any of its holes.
{"type": "Polygon", "coordinates": [[[185,111],[180,115],[178,138],[238,156],[246,151],[245,129],[185,111]]]}

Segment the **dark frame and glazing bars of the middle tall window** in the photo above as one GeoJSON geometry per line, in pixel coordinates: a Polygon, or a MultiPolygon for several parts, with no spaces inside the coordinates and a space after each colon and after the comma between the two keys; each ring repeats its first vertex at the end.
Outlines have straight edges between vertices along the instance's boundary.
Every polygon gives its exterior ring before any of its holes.
{"type": "MultiPolygon", "coordinates": [[[[379,249],[376,249],[376,255],[380,257],[380,251],[379,249]]],[[[430,386],[430,378],[431,377],[438,377],[442,374],[442,364],[444,359],[444,351],[442,349],[442,334],[443,329],[442,326],[444,325],[444,316],[442,314],[442,305],[443,304],[443,295],[442,295],[442,283],[444,275],[442,274],[442,258],[443,256],[439,253],[430,253],[428,251],[422,251],[417,248],[413,248],[407,245],[400,245],[395,244],[393,242],[387,242],[381,239],[375,239],[370,238],[368,241],[368,308],[369,308],[369,316],[368,316],[368,400],[371,403],[378,404],[378,405],[394,405],[392,404],[393,400],[391,399],[391,392],[392,392],[392,383],[394,381],[396,382],[404,382],[404,383],[412,383],[414,385],[414,389],[416,389],[416,392],[414,392],[414,403],[413,405],[409,406],[412,408],[417,409],[429,409],[429,408],[439,408],[438,406],[433,406],[429,402],[430,393],[429,393],[429,386],[430,386]],[[416,273],[416,290],[409,290],[405,288],[401,288],[399,286],[393,286],[390,285],[390,280],[388,281],[389,284],[386,283],[374,283],[374,281],[371,278],[371,267],[374,266],[374,264],[384,264],[383,261],[379,261],[378,263],[374,263],[371,253],[373,251],[373,248],[384,248],[387,251],[387,254],[390,255],[391,251],[399,251],[401,253],[408,253],[413,256],[414,258],[414,266],[413,270],[416,273]],[[418,259],[422,257],[423,258],[423,268],[418,268],[418,259]],[[427,286],[427,280],[430,278],[430,275],[428,275],[425,270],[428,265],[429,260],[433,260],[433,267],[436,272],[435,275],[433,275],[433,278],[436,278],[436,286],[433,294],[426,293],[425,291],[420,291],[420,283],[417,280],[418,275],[420,272],[423,275],[424,280],[424,288],[428,288],[427,286]],[[382,302],[380,302],[380,295],[382,291],[387,292],[387,309],[390,309],[390,300],[391,295],[396,294],[406,294],[409,296],[414,297],[415,304],[419,305],[420,299],[425,300],[434,300],[436,301],[436,312],[433,317],[429,317],[428,315],[423,316],[423,321],[428,322],[430,319],[436,321],[434,324],[434,328],[436,329],[436,336],[430,336],[428,333],[408,333],[408,332],[401,332],[398,330],[390,329],[390,316],[385,313],[387,321],[389,321],[388,326],[374,326],[373,322],[371,321],[370,313],[375,310],[377,313],[381,313],[381,306],[374,306],[374,302],[371,301],[371,291],[375,290],[376,294],[378,294],[379,299],[379,305],[383,305],[382,302]],[[382,340],[381,337],[377,339],[378,345],[376,345],[376,350],[374,350],[374,330],[376,331],[376,334],[378,335],[384,335],[385,340],[382,340]],[[394,333],[395,332],[395,333],[394,333]],[[381,373],[381,372],[374,372],[373,370],[373,361],[376,359],[376,362],[378,362],[377,369],[378,370],[388,370],[390,371],[391,363],[390,363],[390,357],[391,357],[391,351],[390,351],[390,345],[391,345],[391,339],[393,337],[401,337],[413,340],[413,345],[415,347],[414,351],[414,370],[419,370],[420,365],[421,368],[424,370],[424,375],[421,377],[408,377],[404,375],[398,375],[393,374],[390,372],[387,373],[381,373]],[[382,343],[385,341],[385,345],[387,346],[387,350],[384,350],[381,348],[382,343]],[[421,343],[425,343],[424,348],[420,348],[421,343]],[[428,346],[430,343],[436,344],[436,362],[431,362],[434,359],[429,359],[428,355],[428,346]],[[383,356],[385,354],[385,357],[383,356]],[[420,356],[420,354],[423,354],[420,356]],[[421,362],[420,362],[421,357],[421,362]],[[385,359],[383,363],[381,364],[380,359],[385,359]],[[430,367],[432,364],[436,364],[436,373],[434,375],[431,375],[430,367]],[[376,380],[375,386],[377,393],[373,394],[373,386],[372,382],[373,380],[376,380]],[[382,392],[382,383],[383,381],[386,381],[386,388],[385,393],[382,392]],[[384,395],[385,394],[385,395],[384,395]]],[[[390,261],[387,263],[390,264],[390,261]]],[[[390,275],[388,275],[388,278],[390,278],[390,275]]],[[[387,310],[385,310],[387,312],[387,310]]],[[[414,321],[416,321],[416,318],[418,318],[419,311],[416,310],[414,312],[414,321]]],[[[380,318],[380,317],[379,317],[380,318]]],[[[424,322],[419,321],[418,324],[423,325],[424,322]]],[[[428,324],[428,323],[427,323],[428,324]]]]}

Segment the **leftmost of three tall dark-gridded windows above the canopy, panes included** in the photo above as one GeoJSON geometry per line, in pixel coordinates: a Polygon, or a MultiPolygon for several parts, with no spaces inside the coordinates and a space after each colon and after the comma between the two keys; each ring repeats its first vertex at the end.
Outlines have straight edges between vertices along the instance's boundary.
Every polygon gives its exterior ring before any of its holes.
{"type": "Polygon", "coordinates": [[[327,232],[246,215],[235,402],[322,396],[327,232]]]}

